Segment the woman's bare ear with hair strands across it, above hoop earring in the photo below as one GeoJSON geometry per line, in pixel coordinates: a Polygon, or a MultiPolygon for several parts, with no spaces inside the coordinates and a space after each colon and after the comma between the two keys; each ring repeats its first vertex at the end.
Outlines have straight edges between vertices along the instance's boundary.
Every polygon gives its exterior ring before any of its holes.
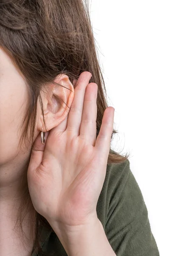
{"type": "Polygon", "coordinates": [[[76,80],[74,80],[72,84],[67,75],[59,74],[54,81],[58,84],[65,86],[66,88],[59,86],[57,84],[49,84],[46,88],[47,92],[41,93],[44,110],[44,119],[48,129],[45,129],[42,110],[40,108],[40,116],[37,124],[38,131],[42,131],[42,126],[44,132],[50,131],[52,128],[56,127],[62,121],[64,121],[65,118],[68,116],[70,106],[73,102],[73,84],[76,82],[76,80]],[[58,96],[61,99],[61,101],[57,99],[57,97],[54,97],[54,95],[58,96]],[[64,102],[68,105],[69,108],[64,102]]]}

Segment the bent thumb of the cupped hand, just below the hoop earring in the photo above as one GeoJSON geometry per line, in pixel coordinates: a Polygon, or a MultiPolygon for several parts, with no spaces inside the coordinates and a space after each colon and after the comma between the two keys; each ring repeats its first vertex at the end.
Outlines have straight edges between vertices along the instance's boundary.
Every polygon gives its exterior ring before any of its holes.
{"type": "Polygon", "coordinates": [[[45,132],[45,143],[44,144],[42,144],[42,142],[41,142],[41,132],[38,134],[37,138],[34,141],[34,144],[32,146],[32,151],[31,151],[31,158],[29,161],[29,168],[31,170],[36,170],[37,167],[39,167],[39,165],[42,163],[43,154],[45,151],[45,145],[46,145],[46,141],[47,141],[49,132],[50,131],[45,132]]]}

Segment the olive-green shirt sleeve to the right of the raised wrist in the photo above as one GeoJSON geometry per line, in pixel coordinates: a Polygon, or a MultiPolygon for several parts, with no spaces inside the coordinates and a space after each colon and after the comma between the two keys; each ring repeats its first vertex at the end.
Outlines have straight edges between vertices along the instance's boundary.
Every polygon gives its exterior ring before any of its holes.
{"type": "Polygon", "coordinates": [[[117,256],[159,256],[144,198],[129,160],[123,166],[115,187],[114,174],[110,174],[108,189],[112,193],[105,226],[107,239],[117,256]]]}

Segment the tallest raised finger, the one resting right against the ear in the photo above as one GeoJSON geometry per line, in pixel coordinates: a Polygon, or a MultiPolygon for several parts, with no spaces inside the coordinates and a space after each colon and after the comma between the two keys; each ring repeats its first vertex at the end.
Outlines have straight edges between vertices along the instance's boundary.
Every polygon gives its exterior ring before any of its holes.
{"type": "Polygon", "coordinates": [[[79,136],[80,124],[82,121],[85,90],[90,78],[90,72],[83,72],[82,74],[80,74],[76,82],[74,99],[68,113],[67,131],[73,131],[73,134],[77,136],[79,136]]]}

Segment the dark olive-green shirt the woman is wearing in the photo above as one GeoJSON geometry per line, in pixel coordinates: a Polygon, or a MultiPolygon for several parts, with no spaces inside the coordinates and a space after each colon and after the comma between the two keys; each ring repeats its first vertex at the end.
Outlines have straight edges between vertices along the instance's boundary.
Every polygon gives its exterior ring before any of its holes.
{"type": "MultiPolygon", "coordinates": [[[[159,256],[144,198],[129,160],[107,164],[96,210],[117,256],[159,256]]],[[[55,256],[67,256],[57,235],[45,227],[42,227],[40,244],[47,255],[54,252],[55,256]]],[[[32,256],[39,254],[34,250],[32,256]]]]}

